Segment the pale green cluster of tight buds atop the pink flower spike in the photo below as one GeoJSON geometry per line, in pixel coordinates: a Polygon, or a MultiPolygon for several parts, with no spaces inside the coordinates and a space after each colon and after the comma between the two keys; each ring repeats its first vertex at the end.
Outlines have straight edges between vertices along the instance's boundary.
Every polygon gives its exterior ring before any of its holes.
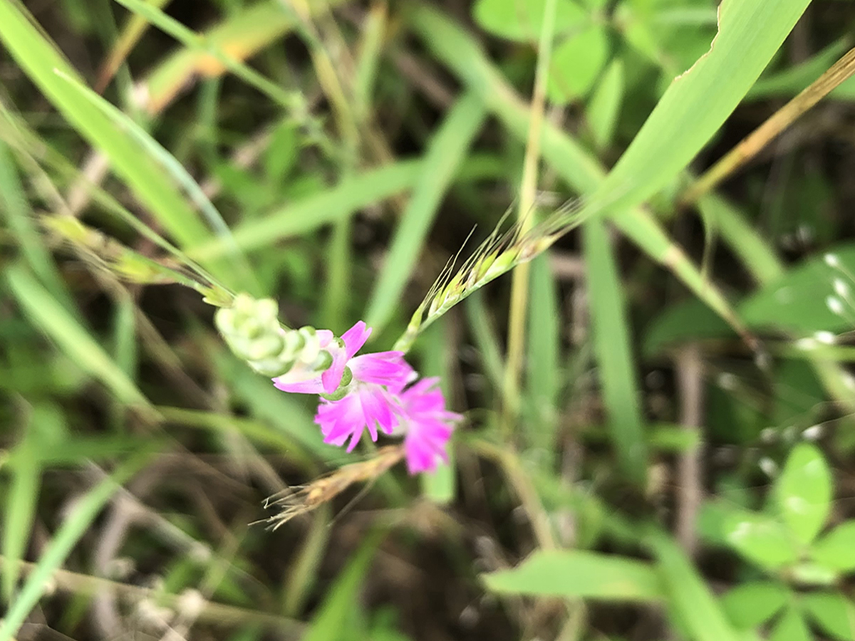
{"type": "Polygon", "coordinates": [[[315,328],[288,329],[278,315],[273,299],[238,294],[232,307],[217,310],[214,321],[229,349],[264,376],[292,372],[311,378],[329,368],[333,356],[321,350],[315,328]]]}

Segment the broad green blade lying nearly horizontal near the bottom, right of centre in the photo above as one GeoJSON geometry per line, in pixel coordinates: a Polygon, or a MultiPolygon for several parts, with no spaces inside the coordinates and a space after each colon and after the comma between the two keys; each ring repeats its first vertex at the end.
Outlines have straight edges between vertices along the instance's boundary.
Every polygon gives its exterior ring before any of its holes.
{"type": "Polygon", "coordinates": [[[586,550],[539,550],[510,570],[483,574],[488,590],[598,601],[659,601],[657,573],[649,563],[586,550]]]}

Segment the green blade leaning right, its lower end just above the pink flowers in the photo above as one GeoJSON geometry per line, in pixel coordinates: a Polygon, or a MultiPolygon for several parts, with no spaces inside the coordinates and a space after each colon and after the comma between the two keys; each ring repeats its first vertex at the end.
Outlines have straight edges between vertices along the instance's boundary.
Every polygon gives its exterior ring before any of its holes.
{"type": "Polygon", "coordinates": [[[389,321],[416,267],[439,203],[486,119],[481,98],[469,91],[451,106],[425,152],[420,177],[392,238],[392,246],[366,309],[365,322],[379,331],[389,321]]]}

